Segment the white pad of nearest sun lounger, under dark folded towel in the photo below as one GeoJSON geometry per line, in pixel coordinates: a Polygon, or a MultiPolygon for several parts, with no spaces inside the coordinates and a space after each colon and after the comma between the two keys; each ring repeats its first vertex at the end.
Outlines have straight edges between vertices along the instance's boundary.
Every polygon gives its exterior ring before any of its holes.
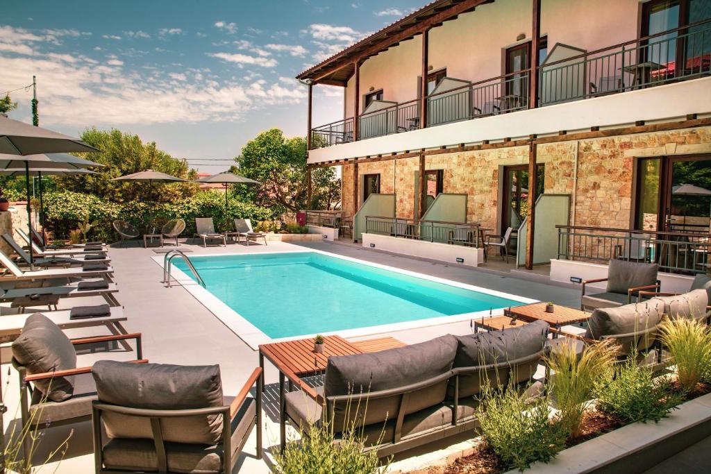
{"type": "MultiPolygon", "coordinates": [[[[94,318],[71,318],[72,310],[63,309],[60,311],[46,311],[42,314],[50,321],[59,326],[60,329],[90,328],[93,326],[106,326],[112,334],[126,334],[127,331],[122,325],[127,321],[123,308],[109,308],[107,316],[94,318]]],[[[0,343],[7,343],[16,340],[25,325],[30,314],[9,314],[0,316],[0,343]]]]}

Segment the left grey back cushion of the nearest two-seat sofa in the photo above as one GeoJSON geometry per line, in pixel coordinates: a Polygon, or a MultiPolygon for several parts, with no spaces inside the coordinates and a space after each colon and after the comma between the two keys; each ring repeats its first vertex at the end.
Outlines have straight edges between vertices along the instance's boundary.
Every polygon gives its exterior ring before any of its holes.
{"type": "MultiPolygon", "coordinates": [[[[369,354],[328,357],[325,393],[332,395],[378,392],[397,389],[422,382],[451,370],[456,354],[456,338],[444,335],[424,343],[402,348],[381,350],[369,354]]],[[[447,379],[410,393],[404,407],[405,414],[438,404],[447,394],[447,379]]],[[[359,420],[368,425],[397,416],[400,394],[368,400],[365,403],[338,404],[335,409],[334,429],[341,423],[359,420]]]]}

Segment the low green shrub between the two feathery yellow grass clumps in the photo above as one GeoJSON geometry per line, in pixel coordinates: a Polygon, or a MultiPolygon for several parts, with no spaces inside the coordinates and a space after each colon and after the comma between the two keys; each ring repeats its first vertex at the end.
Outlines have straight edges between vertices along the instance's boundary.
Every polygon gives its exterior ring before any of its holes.
{"type": "Polygon", "coordinates": [[[597,407],[622,421],[655,422],[665,418],[683,401],[683,395],[672,392],[670,377],[654,377],[651,367],[639,365],[635,354],[622,362],[609,380],[595,389],[597,407]]]}

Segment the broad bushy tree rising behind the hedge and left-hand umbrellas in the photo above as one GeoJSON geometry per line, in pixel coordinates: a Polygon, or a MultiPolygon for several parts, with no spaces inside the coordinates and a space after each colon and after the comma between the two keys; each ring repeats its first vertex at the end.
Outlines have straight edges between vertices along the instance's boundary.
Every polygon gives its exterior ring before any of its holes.
{"type": "Polygon", "coordinates": [[[100,149],[99,152],[85,153],[85,158],[107,165],[99,168],[97,175],[66,176],[57,178],[60,186],[75,193],[87,193],[119,203],[130,200],[156,200],[174,202],[194,195],[198,185],[194,183],[156,184],[132,181],[111,181],[146,169],[153,169],[183,179],[195,178],[195,171],[188,167],[185,160],[173,158],[161,151],[154,141],[144,143],[138,135],[124,133],[117,129],[86,129],[81,135],[82,141],[100,149]]]}

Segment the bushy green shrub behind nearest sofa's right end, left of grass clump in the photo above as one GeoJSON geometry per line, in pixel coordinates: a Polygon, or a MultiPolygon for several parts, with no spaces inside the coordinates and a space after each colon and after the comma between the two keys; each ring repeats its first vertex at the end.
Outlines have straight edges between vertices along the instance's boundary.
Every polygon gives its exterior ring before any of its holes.
{"type": "Polygon", "coordinates": [[[517,387],[487,387],[481,397],[481,435],[506,468],[524,470],[547,463],[565,447],[566,432],[549,419],[549,399],[531,400],[517,387]]]}

